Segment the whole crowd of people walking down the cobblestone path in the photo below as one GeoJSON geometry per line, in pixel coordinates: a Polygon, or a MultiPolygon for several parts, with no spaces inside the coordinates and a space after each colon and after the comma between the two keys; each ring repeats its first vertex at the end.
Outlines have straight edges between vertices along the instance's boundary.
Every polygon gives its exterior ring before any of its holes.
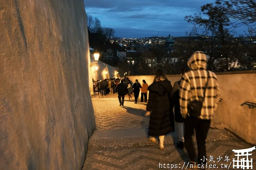
{"type": "MultiPolygon", "coordinates": [[[[141,102],[148,102],[145,115],[149,116],[149,140],[156,142],[156,137],[159,137],[159,148],[164,149],[165,135],[176,128],[179,140],[177,147],[183,149],[185,146],[190,163],[204,165],[205,140],[211,119],[221,101],[217,76],[206,70],[206,66],[206,55],[196,51],[188,60],[189,68],[181,70],[181,79],[173,86],[164,71],[158,69],[151,85],[145,80],[141,85],[137,79],[132,84],[129,78],[122,78],[97,81],[96,87],[101,89],[101,95],[117,92],[120,106],[124,106],[125,95],[128,95],[129,100],[132,99],[132,93],[137,103],[141,92],[141,102]],[[197,156],[192,140],[194,129],[197,156]]],[[[205,168],[200,166],[199,169],[205,168]]]]}

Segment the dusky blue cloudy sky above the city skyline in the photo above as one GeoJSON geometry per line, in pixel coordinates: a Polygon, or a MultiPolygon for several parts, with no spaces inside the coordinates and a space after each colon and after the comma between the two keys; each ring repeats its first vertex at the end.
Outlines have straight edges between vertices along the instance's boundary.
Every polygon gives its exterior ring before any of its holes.
{"type": "MultiPolygon", "coordinates": [[[[115,29],[116,37],[185,36],[193,28],[186,15],[214,0],[84,0],[85,11],[98,17],[103,27],[115,29]]],[[[236,29],[243,34],[247,27],[236,29]]]]}

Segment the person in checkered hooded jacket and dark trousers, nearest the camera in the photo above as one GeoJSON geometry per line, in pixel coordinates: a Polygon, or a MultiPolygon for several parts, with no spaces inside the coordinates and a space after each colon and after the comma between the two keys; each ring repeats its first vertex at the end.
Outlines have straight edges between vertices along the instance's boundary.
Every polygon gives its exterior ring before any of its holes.
{"type": "MultiPolygon", "coordinates": [[[[188,59],[190,71],[180,80],[180,112],[185,118],[184,144],[190,162],[205,164],[205,140],[220,101],[220,88],[217,76],[206,70],[207,58],[204,52],[196,51],[188,59]],[[198,156],[192,140],[196,131],[198,156]]],[[[202,168],[204,169],[204,168],[202,168]]]]}

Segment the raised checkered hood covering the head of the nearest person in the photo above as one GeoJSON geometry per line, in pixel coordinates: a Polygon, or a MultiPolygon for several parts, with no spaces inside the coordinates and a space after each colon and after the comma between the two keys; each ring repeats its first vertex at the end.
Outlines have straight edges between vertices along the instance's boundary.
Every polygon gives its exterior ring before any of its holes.
{"type": "Polygon", "coordinates": [[[188,67],[191,70],[200,70],[206,69],[207,67],[207,58],[204,52],[196,51],[188,59],[188,67]]]}

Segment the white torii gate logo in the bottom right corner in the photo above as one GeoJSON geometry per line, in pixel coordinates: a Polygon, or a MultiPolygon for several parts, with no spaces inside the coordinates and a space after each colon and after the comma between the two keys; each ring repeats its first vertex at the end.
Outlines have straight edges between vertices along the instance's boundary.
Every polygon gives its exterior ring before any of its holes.
{"type": "Polygon", "coordinates": [[[252,169],[252,158],[249,160],[248,156],[251,156],[253,150],[255,150],[255,146],[252,148],[248,148],[248,149],[240,149],[240,150],[235,150],[233,149],[232,151],[237,153],[235,156],[237,156],[237,160],[235,160],[235,158],[233,158],[233,168],[237,168],[237,169],[252,169]],[[246,157],[245,158],[240,158],[239,157],[246,157]],[[235,165],[236,163],[236,165],[235,165]]]}

